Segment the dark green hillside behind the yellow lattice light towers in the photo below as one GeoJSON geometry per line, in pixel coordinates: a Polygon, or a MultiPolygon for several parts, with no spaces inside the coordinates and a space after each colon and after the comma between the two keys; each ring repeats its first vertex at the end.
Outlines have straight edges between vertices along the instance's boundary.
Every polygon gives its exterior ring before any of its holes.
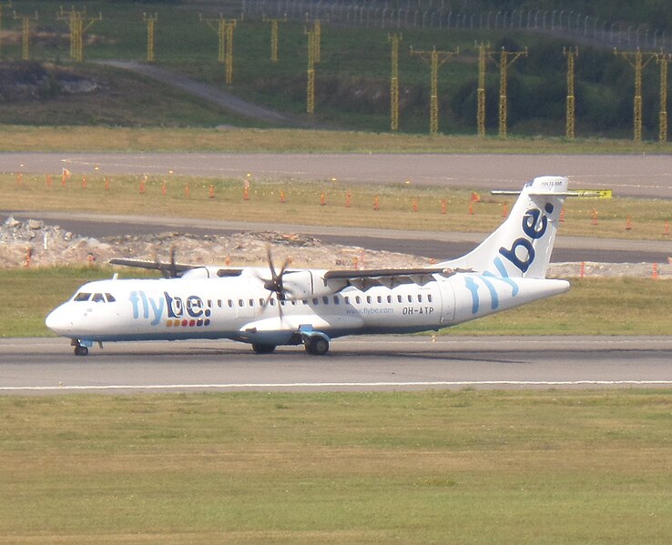
{"type": "MultiPolygon", "coordinates": [[[[281,3],[278,3],[280,6],[281,3]]],[[[421,5],[422,3],[418,3],[421,5]]],[[[463,3],[457,3],[462,5],[463,3]]],[[[501,3],[500,3],[501,4],[501,3]]],[[[576,3],[579,5],[580,3],[576,3]]],[[[236,11],[235,2],[225,3],[236,11]]],[[[489,7],[487,2],[469,5],[489,7]]],[[[508,3],[512,9],[518,4],[508,3]]],[[[218,4],[221,6],[221,4],[218,4]]],[[[254,3],[246,4],[253,12],[254,3]]],[[[586,5],[587,6],[587,5],[586,5]]],[[[233,30],[232,83],[225,80],[225,64],[218,62],[217,6],[209,3],[152,3],[157,18],[154,33],[155,64],[211,86],[273,108],[305,116],[307,37],[304,22],[279,23],[279,60],[270,61],[270,24],[248,15],[233,30]],[[199,19],[199,10],[206,14],[199,19]],[[209,11],[208,11],[209,10],[209,11]],[[214,16],[212,16],[214,15],[214,16]]],[[[87,21],[83,40],[84,63],[69,58],[68,25],[56,3],[25,2],[22,9],[37,9],[32,23],[29,56],[23,55],[18,25],[5,30],[0,66],[0,123],[25,125],[107,126],[264,126],[231,115],[221,106],[189,96],[166,84],[109,67],[95,66],[99,59],[144,61],[147,57],[148,5],[87,3],[78,12],[87,21]],[[97,19],[100,12],[100,20],[97,19]],[[17,64],[18,63],[18,64],[17,64]],[[31,79],[33,78],[33,79],[31,79]],[[89,82],[73,87],[68,82],[89,82]]],[[[279,7],[278,7],[279,8],[279,7]]],[[[586,7],[587,10],[587,7],[586,7]]],[[[564,14],[563,10],[563,14],[564,14]]],[[[631,10],[629,16],[637,16],[631,10]]],[[[513,13],[513,12],[512,12],[513,13]]],[[[588,11],[583,12],[588,13],[588,11]]],[[[589,13],[601,13],[592,10],[589,13]]],[[[554,12],[555,14],[555,12],[554,12]]],[[[575,66],[577,136],[632,135],[634,70],[605,44],[588,45],[581,33],[563,34],[563,14],[553,35],[517,28],[406,28],[399,53],[399,127],[402,132],[425,133],[429,127],[430,69],[409,48],[459,54],[440,67],[438,83],[439,130],[446,134],[476,131],[478,51],[474,43],[491,45],[485,76],[486,130],[498,126],[498,52],[523,52],[508,70],[509,133],[563,136],[565,132],[567,46],[579,48],[575,66]]],[[[559,15],[559,16],[558,16],[559,15]]],[[[550,16],[550,15],[549,15],[550,16]]],[[[589,17],[590,15],[586,15],[589,17]]],[[[593,15],[596,17],[597,15],[593,15]]],[[[522,18],[521,18],[522,20],[522,18]]],[[[586,24],[588,19],[585,19],[586,24]]],[[[659,21],[665,18],[661,15],[659,21]]],[[[568,20],[571,28],[571,21],[568,20]]],[[[500,25],[501,26],[501,25],[500,25]]],[[[597,28],[597,26],[596,26],[597,28]]],[[[587,34],[587,26],[585,28],[587,34]]],[[[389,28],[321,23],[321,59],[315,65],[316,124],[365,131],[390,128],[389,28]]],[[[623,44],[624,48],[626,44],[623,44]]],[[[657,138],[659,81],[656,59],[647,57],[642,100],[644,136],[657,138]]]]}

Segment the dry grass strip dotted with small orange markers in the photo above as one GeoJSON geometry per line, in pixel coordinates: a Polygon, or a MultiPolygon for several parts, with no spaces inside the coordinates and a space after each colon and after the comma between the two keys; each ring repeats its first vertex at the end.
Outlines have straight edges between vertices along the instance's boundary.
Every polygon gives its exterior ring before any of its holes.
{"type": "MultiPolygon", "coordinates": [[[[503,221],[514,205],[515,197],[492,197],[481,193],[481,202],[473,204],[469,215],[472,191],[443,187],[416,187],[412,180],[396,184],[371,186],[348,184],[339,180],[297,182],[287,179],[260,178],[249,173],[249,200],[244,200],[242,179],[179,177],[168,174],[151,176],[140,193],[141,177],[72,177],[62,187],[60,173],[52,175],[49,187],[46,177],[36,175],[0,175],[0,190],[5,207],[13,210],[76,209],[96,212],[168,217],[193,217],[229,221],[263,221],[292,223],[300,217],[302,225],[346,227],[378,227],[438,232],[491,232],[503,221]],[[408,181],[408,183],[406,183],[408,181]],[[166,195],[162,186],[166,184],[166,195]],[[212,186],[214,197],[209,197],[212,186]],[[187,196],[188,187],[188,196],[187,196]],[[351,207],[346,207],[351,194],[351,207]],[[280,203],[280,193],[285,203],[280,203]],[[324,195],[325,206],[321,206],[324,195]],[[373,201],[379,197],[380,209],[373,212],[373,201]],[[442,201],[446,214],[442,214],[442,201]],[[413,209],[413,202],[417,211],[413,209]]],[[[660,199],[615,197],[611,199],[574,199],[565,204],[565,236],[617,237],[624,239],[665,240],[665,221],[672,219],[669,203],[660,199]],[[593,210],[598,212],[597,225],[592,225],[593,210]],[[631,218],[630,230],[626,219],[631,218]]],[[[442,258],[445,256],[436,256],[442,258]]]]}

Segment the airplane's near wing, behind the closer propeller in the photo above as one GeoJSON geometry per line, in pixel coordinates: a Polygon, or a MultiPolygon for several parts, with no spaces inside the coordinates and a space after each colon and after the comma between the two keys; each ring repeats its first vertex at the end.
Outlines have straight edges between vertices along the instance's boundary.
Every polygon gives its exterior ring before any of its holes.
{"type": "Polygon", "coordinates": [[[324,280],[344,282],[346,286],[354,286],[365,291],[374,286],[394,288],[402,284],[423,286],[433,280],[434,275],[452,277],[464,270],[442,267],[427,268],[372,268],[365,270],[329,270],[324,273],[324,280]]]}

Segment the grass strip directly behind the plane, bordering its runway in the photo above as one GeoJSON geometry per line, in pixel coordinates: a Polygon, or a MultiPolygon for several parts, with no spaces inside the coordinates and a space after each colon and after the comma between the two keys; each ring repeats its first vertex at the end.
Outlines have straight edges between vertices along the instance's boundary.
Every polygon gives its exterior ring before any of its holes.
{"type": "MultiPolygon", "coordinates": [[[[142,272],[119,268],[126,278],[142,272]]],[[[46,314],[76,288],[111,269],[56,267],[0,269],[0,337],[51,335],[46,314]],[[36,288],[38,286],[39,288],[36,288]]],[[[649,278],[575,278],[572,289],[545,299],[443,329],[450,335],[669,335],[672,282],[649,278]]]]}

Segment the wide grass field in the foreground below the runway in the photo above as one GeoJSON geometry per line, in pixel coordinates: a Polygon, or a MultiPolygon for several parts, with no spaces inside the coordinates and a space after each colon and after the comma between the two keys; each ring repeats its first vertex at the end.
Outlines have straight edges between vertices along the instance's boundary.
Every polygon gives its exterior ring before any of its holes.
{"type": "Polygon", "coordinates": [[[2,543],[647,543],[667,390],[0,398],[2,543]]]}

